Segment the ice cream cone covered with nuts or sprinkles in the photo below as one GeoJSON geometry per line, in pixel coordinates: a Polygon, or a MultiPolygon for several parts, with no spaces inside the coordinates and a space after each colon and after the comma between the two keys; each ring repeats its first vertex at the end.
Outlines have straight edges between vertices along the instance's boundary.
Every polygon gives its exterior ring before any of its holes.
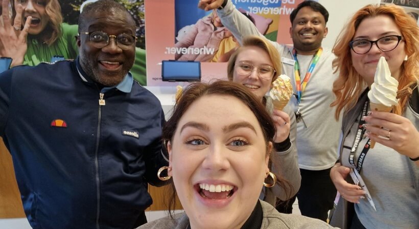
{"type": "Polygon", "coordinates": [[[273,107],[282,110],[292,96],[291,79],[287,75],[280,75],[272,82],[272,89],[269,92],[272,98],[273,107]]]}

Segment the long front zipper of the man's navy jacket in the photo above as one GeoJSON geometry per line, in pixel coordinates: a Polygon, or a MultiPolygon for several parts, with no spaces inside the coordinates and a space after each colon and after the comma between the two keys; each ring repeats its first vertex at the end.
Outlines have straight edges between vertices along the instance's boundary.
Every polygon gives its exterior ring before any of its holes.
{"type": "Polygon", "coordinates": [[[99,179],[99,138],[100,138],[100,123],[102,118],[102,106],[105,105],[105,100],[103,99],[104,93],[99,93],[99,114],[98,114],[98,132],[96,135],[96,151],[95,151],[95,168],[96,168],[96,195],[97,195],[97,209],[96,209],[96,228],[100,229],[99,225],[99,215],[100,215],[100,179],[99,179]]]}

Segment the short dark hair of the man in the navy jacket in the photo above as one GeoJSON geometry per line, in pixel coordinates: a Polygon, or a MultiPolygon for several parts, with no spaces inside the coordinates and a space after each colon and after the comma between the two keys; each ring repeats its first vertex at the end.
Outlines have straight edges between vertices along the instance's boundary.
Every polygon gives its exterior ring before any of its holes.
{"type": "Polygon", "coordinates": [[[131,15],[131,13],[121,4],[113,1],[113,0],[99,0],[94,3],[87,4],[84,6],[82,12],[79,16],[79,33],[84,32],[85,26],[86,26],[86,17],[92,12],[111,12],[112,10],[118,10],[123,13],[126,13],[130,15],[132,22],[135,26],[135,20],[134,17],[131,15]]]}

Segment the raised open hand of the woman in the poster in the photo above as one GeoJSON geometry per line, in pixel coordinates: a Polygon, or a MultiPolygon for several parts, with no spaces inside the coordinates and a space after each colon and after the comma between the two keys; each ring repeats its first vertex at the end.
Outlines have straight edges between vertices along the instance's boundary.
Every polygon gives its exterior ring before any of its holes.
{"type": "Polygon", "coordinates": [[[32,17],[27,18],[23,29],[21,29],[23,7],[20,4],[16,6],[16,17],[12,22],[9,13],[9,1],[2,1],[3,24],[0,24],[0,56],[12,58],[11,66],[16,66],[24,62],[24,56],[28,48],[26,38],[32,17]]]}

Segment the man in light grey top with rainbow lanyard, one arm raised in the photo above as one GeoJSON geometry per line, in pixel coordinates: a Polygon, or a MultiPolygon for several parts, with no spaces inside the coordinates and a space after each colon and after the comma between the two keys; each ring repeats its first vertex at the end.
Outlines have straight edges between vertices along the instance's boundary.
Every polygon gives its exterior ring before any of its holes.
{"type": "MultiPolygon", "coordinates": [[[[198,7],[218,9],[223,25],[238,38],[263,36],[229,0],[201,0],[198,7]]],[[[290,35],[294,46],[289,48],[272,42],[281,54],[282,74],[291,78],[295,93],[288,106],[297,121],[298,164],[301,186],[297,193],[302,215],[326,221],[333,208],[336,188],[330,179],[330,169],[337,160],[340,121],[335,121],[333,82],[338,76],[332,69],[335,58],[321,42],[328,34],[328,11],[315,1],[300,3],[291,13],[290,35]]],[[[295,200],[281,203],[277,210],[291,213],[295,200]]]]}

